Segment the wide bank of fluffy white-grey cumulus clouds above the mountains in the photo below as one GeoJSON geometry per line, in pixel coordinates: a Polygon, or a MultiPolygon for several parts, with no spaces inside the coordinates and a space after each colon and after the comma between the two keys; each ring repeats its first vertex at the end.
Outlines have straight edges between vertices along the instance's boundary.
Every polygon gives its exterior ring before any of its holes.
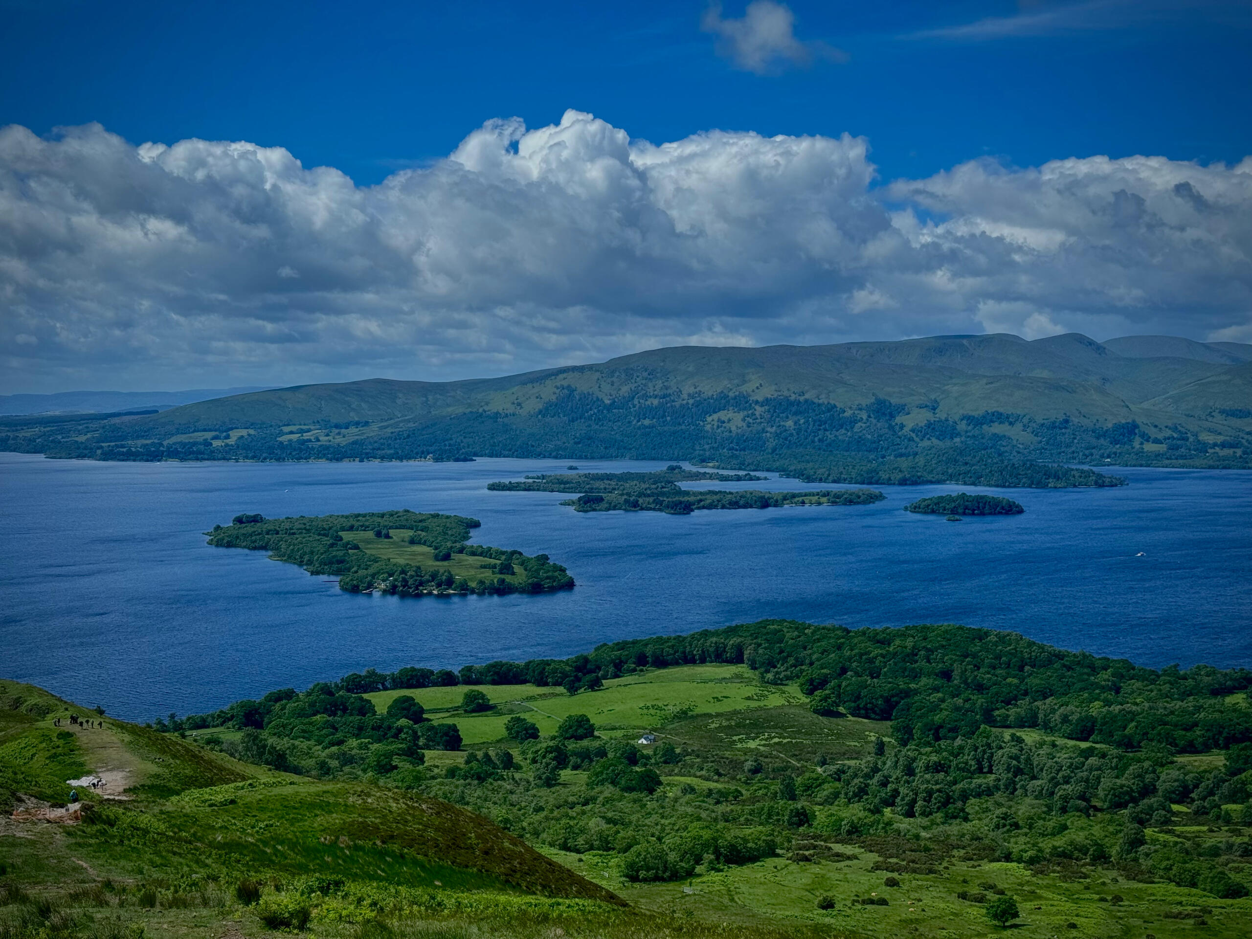
{"type": "Polygon", "coordinates": [[[1252,338],[1252,160],[969,163],[493,120],[362,188],[279,148],[0,130],[8,387],[454,378],[665,344],[1252,338]]]}

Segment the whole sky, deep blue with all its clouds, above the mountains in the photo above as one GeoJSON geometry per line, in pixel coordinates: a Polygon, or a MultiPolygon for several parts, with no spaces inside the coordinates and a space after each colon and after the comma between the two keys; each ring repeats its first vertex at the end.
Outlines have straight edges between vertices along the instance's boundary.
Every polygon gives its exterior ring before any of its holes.
{"type": "Polygon", "coordinates": [[[1252,342],[1252,0],[0,0],[0,393],[1252,342]]]}

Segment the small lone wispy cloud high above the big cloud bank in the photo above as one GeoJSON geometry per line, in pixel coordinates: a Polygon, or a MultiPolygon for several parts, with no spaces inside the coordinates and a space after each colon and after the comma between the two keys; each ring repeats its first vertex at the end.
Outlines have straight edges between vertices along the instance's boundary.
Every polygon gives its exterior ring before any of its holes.
{"type": "Polygon", "coordinates": [[[805,66],[814,59],[846,61],[848,55],[825,43],[801,43],[795,38],[795,14],[786,4],[752,0],[742,19],[721,15],[721,4],[712,3],[700,21],[705,33],[717,36],[717,53],[735,68],[769,75],[790,65],[805,66]]]}

